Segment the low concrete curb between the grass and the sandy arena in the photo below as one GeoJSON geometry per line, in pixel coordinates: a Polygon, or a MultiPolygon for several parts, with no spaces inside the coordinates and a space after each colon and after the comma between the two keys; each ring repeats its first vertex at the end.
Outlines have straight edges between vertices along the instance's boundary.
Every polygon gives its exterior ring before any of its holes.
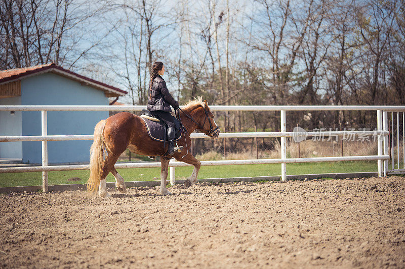
{"type": "MultiPolygon", "coordinates": [[[[304,180],[307,179],[319,179],[319,178],[332,178],[332,179],[345,179],[345,178],[362,178],[362,177],[378,177],[378,172],[356,172],[356,173],[330,173],[330,174],[306,174],[306,175],[289,175],[288,180],[304,180]]],[[[252,182],[259,180],[280,180],[281,176],[263,176],[263,177],[241,177],[241,178],[208,178],[198,179],[198,182],[252,182]]],[[[176,184],[183,184],[185,180],[176,180],[176,184]]],[[[154,187],[160,185],[160,180],[150,181],[128,181],[125,182],[127,188],[133,187],[154,187]]],[[[115,182],[107,182],[107,188],[114,188],[115,182]]],[[[42,190],[42,186],[21,186],[21,187],[2,187],[0,193],[12,193],[12,192],[38,192],[42,190]]],[[[86,190],[86,184],[61,184],[61,185],[49,185],[48,190],[51,191],[76,191],[86,190]]]]}

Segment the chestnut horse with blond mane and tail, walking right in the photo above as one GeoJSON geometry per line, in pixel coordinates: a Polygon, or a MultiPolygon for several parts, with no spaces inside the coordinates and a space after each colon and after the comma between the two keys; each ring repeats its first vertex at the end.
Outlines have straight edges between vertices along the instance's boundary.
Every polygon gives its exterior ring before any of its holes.
{"type": "MultiPolygon", "coordinates": [[[[201,97],[188,102],[178,114],[186,133],[183,133],[182,138],[177,141],[179,146],[184,147],[183,150],[175,152],[173,157],[180,162],[194,166],[193,173],[186,181],[188,185],[191,185],[197,181],[200,162],[194,158],[191,152],[187,152],[191,146],[190,134],[197,129],[215,139],[218,138],[220,130],[208,107],[207,100],[203,102],[201,97]]],[[[163,142],[152,140],[147,133],[145,122],[134,114],[121,112],[100,121],[94,128],[94,142],[90,148],[90,178],[87,182],[87,189],[90,192],[98,189],[100,197],[109,197],[106,189],[106,177],[111,172],[117,189],[125,192],[124,178],[114,168],[121,153],[128,148],[140,155],[161,156],[167,152],[167,145],[168,143],[163,148],[163,142]]],[[[160,193],[168,195],[171,194],[166,188],[169,159],[161,157],[160,163],[160,193]]]]}

